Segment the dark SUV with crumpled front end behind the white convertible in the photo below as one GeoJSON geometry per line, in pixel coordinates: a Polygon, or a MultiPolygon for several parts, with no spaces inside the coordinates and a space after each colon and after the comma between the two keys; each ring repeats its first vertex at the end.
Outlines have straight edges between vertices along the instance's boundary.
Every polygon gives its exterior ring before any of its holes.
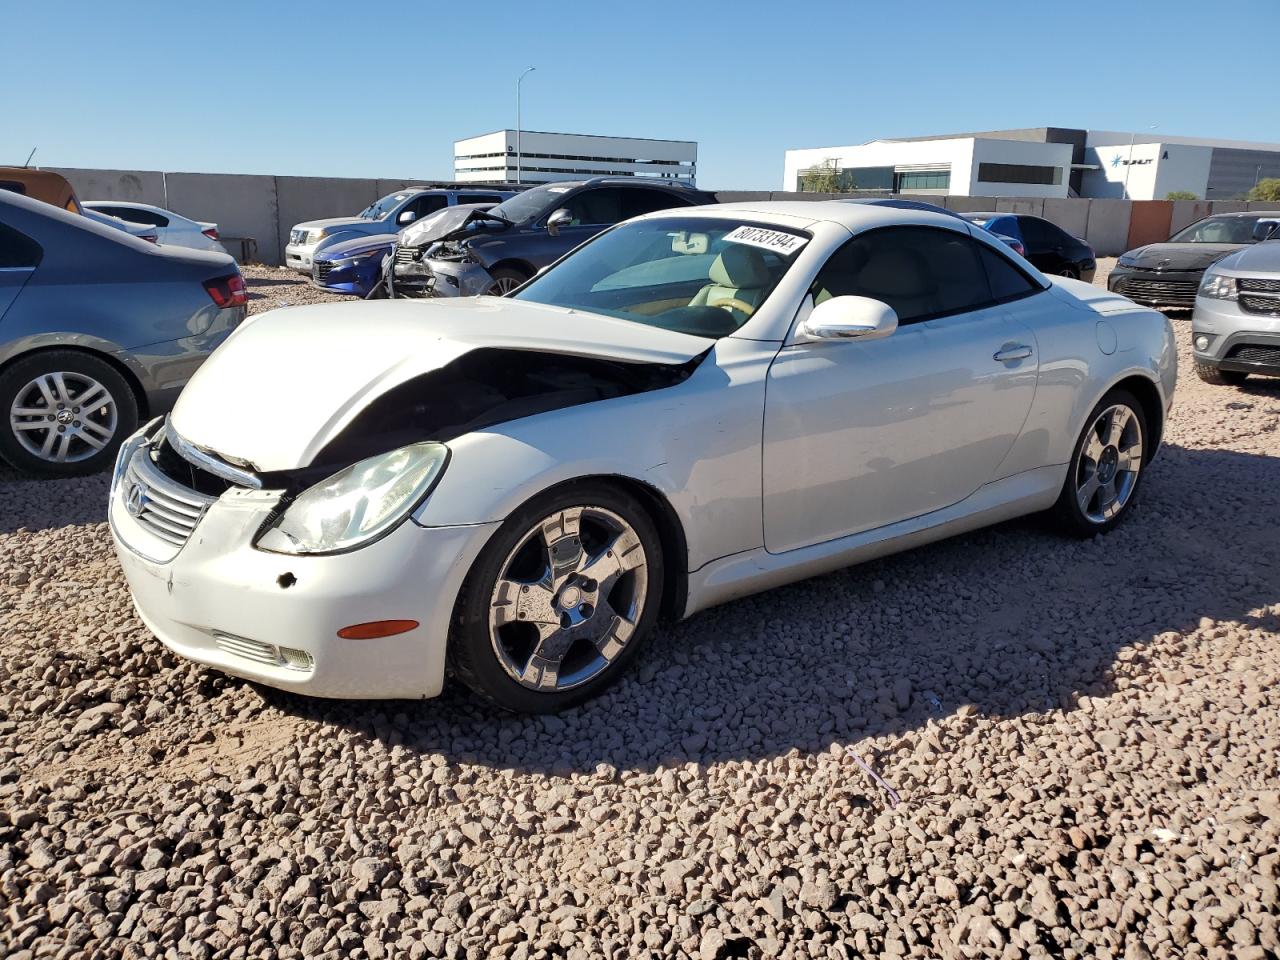
{"type": "Polygon", "coordinates": [[[660,180],[547,183],[489,210],[460,210],[398,246],[388,287],[397,297],[502,296],[616,223],[714,202],[710,193],[660,180]]]}

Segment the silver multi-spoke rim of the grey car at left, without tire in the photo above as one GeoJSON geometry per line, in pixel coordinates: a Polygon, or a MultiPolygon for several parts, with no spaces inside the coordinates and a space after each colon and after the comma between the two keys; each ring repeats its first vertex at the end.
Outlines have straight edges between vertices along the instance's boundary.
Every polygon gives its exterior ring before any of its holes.
{"type": "Polygon", "coordinates": [[[37,376],[14,397],[9,429],[35,457],[51,463],[88,460],[115,436],[115,398],[102,384],[73,371],[37,376]]]}

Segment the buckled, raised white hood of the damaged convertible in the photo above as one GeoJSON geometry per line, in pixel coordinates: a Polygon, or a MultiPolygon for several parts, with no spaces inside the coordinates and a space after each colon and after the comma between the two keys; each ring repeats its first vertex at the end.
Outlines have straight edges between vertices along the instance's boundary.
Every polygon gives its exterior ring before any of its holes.
{"type": "Polygon", "coordinates": [[[186,440],[239,466],[293,470],[310,465],[378,397],[476,349],[671,365],[713,343],[498,297],[288,307],[232,334],[187,384],[170,422],[186,440]]]}

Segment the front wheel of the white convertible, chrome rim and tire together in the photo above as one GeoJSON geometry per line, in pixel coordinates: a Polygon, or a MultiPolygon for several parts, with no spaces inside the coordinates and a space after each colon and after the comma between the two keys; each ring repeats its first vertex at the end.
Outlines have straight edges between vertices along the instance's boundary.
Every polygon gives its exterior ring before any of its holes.
{"type": "Polygon", "coordinates": [[[554,713],[613,684],[662,603],[663,557],[644,506],[608,484],[538,497],[481,550],[458,596],[449,664],[520,713],[554,713]]]}

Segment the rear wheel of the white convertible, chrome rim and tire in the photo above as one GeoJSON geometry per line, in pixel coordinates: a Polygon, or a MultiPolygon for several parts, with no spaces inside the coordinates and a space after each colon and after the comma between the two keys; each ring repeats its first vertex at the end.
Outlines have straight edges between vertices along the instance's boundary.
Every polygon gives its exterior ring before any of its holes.
{"type": "Polygon", "coordinates": [[[1062,493],[1053,507],[1078,536],[1105,534],[1129,513],[1147,462],[1147,417],[1128,390],[1111,390],[1089,413],[1075,442],[1062,493]]]}

